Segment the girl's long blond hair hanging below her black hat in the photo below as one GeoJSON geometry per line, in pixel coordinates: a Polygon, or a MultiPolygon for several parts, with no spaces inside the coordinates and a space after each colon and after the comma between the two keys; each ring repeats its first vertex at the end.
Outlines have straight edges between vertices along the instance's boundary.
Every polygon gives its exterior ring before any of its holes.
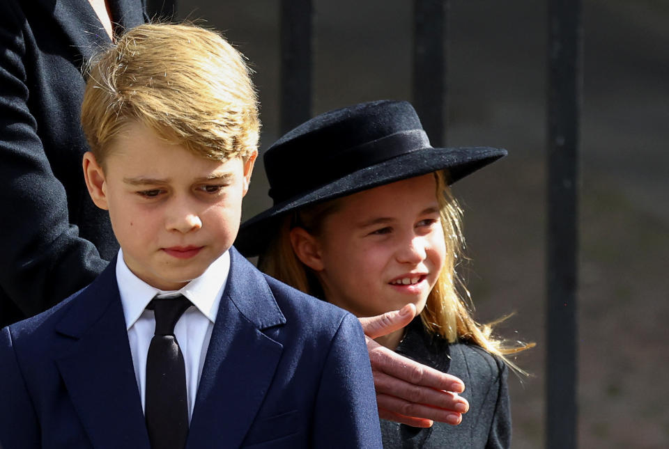
{"type": "MultiPolygon", "coordinates": [[[[437,282],[427,297],[425,307],[420,318],[423,326],[430,333],[444,338],[448,342],[467,341],[486,349],[487,352],[500,357],[511,368],[521,374],[518,368],[508,359],[509,354],[528,349],[534,344],[509,344],[502,338],[493,336],[493,326],[498,320],[490,324],[477,323],[470,313],[470,309],[463,297],[471,304],[470,294],[458,276],[456,267],[463,258],[465,239],[462,233],[462,210],[451,194],[445,174],[441,171],[434,173],[436,178],[436,195],[439,203],[440,219],[443,227],[446,257],[437,282]]],[[[286,216],[279,226],[276,237],[268,249],[259,258],[259,268],[298,290],[307,292],[316,297],[323,297],[318,280],[314,273],[302,264],[293,251],[290,239],[291,228],[300,226],[309,233],[318,235],[321,232],[323,219],[337,210],[340,199],[320,203],[286,216]]]]}

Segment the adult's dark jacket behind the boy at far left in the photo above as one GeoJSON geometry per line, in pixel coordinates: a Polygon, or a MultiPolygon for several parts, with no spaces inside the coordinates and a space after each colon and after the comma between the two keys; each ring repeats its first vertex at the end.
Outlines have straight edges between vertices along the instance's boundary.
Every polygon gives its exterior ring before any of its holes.
{"type": "MultiPolygon", "coordinates": [[[[109,0],[128,29],[144,0],[109,0]]],[[[93,281],[118,249],[89,198],[82,63],[111,40],[88,0],[0,1],[0,326],[93,281]]]]}

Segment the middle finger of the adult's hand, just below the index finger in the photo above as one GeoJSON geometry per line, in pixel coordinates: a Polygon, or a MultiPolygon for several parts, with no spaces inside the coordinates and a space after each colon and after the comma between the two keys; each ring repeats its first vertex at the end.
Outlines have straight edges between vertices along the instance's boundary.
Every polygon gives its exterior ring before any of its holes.
{"type": "MultiPolygon", "coordinates": [[[[420,404],[429,409],[441,409],[447,412],[467,413],[469,411],[469,402],[451,391],[436,390],[426,386],[417,386],[409,384],[395,377],[390,377],[383,372],[372,372],[374,375],[374,388],[376,389],[376,400],[383,395],[390,396],[400,402],[391,402],[394,407],[385,407],[395,413],[401,413],[406,416],[433,419],[430,414],[408,414],[407,410],[397,407],[407,407],[406,404],[420,404]]],[[[412,409],[413,410],[413,409],[412,409]]],[[[420,409],[420,413],[431,413],[431,410],[420,409]]]]}

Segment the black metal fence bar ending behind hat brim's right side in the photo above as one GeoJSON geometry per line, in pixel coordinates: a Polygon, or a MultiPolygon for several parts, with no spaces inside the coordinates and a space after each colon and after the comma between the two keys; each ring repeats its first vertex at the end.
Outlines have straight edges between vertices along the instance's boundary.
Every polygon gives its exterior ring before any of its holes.
{"type": "Polygon", "coordinates": [[[413,104],[432,145],[443,146],[448,0],[414,0],[413,8],[413,104]]]}

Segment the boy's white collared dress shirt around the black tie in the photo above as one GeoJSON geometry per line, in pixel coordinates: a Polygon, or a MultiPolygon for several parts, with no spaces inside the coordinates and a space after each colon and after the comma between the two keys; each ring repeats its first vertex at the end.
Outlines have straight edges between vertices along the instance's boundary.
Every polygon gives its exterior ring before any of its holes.
{"type": "Polygon", "coordinates": [[[155,332],[153,310],[146,310],[146,306],[156,295],[169,297],[176,294],[183,294],[194,306],[188,308],[174,326],[174,335],[186,365],[186,392],[188,420],[190,421],[211,331],[229,271],[230,254],[226,251],[199,278],[193,279],[181,290],[165,292],[151,287],[135,276],[128,265],[125,265],[123,251],[118,251],[116,282],[118,292],[121,294],[125,327],[128,329],[130,353],[134,375],[137,378],[137,386],[139,386],[142,410],[146,402],[146,355],[155,332]]]}

